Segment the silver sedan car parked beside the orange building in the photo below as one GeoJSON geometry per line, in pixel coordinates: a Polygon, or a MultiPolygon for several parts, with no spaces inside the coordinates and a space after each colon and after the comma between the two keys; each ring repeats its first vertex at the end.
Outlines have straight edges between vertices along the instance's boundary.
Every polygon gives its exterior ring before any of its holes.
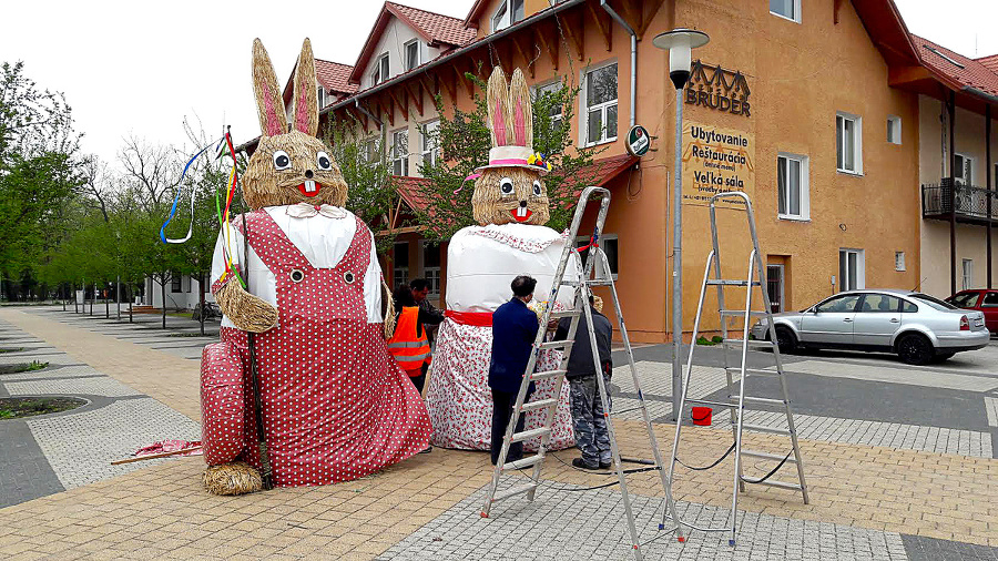
{"type": "MultiPolygon", "coordinates": [[[[912,290],[851,290],[803,312],[773,314],[781,353],[800,347],[896,353],[910,365],[988,345],[984,314],[912,290]]],[[[752,327],[768,339],[767,320],[752,327]]]]}

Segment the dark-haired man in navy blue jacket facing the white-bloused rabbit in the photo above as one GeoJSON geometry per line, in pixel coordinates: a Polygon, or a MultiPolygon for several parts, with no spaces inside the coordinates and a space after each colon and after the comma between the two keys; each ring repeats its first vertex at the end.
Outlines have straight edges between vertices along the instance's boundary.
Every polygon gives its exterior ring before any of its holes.
{"type": "MultiPolygon", "coordinates": [[[[489,363],[489,387],[492,388],[492,465],[499,461],[499,452],[502,449],[502,438],[506,436],[506,427],[513,415],[513,405],[517,402],[517,394],[520,392],[520,384],[530,361],[530,353],[533,348],[533,339],[537,337],[539,322],[537,314],[527,307],[527,303],[533,298],[533,287],[537,280],[521,275],[513,279],[510,287],[513,297],[499,306],[492,313],[492,358],[489,363]]],[[[525,401],[533,394],[534,386],[530,382],[525,401]]],[[[523,430],[526,416],[520,415],[516,431],[523,430]]],[[[516,461],[523,457],[523,442],[515,442],[509,446],[507,461],[516,461]]]]}

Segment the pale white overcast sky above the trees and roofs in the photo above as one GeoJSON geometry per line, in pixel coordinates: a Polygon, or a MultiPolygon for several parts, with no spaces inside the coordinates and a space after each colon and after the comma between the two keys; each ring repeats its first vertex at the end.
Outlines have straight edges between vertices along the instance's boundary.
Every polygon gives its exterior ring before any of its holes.
{"type": "MultiPolygon", "coordinates": [[[[914,33],[967,57],[998,53],[998,1],[895,2],[914,33]]],[[[473,0],[401,3],[464,18],[473,0]]],[[[185,116],[198,116],[210,136],[223,123],[236,143],[256,136],[253,38],[263,40],[283,86],[305,37],[316,57],[353,64],[381,7],[379,0],[3,4],[0,61],[24,61],[41,88],[64,92],[85,133],[83,150],[112,162],[129,134],[183,144],[185,116]]]]}

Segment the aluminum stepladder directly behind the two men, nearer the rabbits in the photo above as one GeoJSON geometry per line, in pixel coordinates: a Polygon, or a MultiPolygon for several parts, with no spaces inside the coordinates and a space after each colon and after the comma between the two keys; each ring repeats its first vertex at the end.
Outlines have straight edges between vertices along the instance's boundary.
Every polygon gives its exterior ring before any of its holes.
{"type": "MultiPolygon", "coordinates": [[[[630,497],[628,494],[628,484],[625,472],[621,468],[621,459],[620,459],[620,449],[617,443],[617,434],[613,427],[613,417],[617,415],[621,415],[623,412],[641,410],[642,418],[644,420],[644,425],[648,430],[648,438],[651,445],[652,453],[654,456],[654,467],[652,470],[658,470],[661,482],[662,490],[665,494],[665,514],[670,514],[678,519],[675,514],[675,504],[672,501],[672,489],[666,480],[664,461],[662,460],[662,455],[659,450],[659,445],[655,439],[654,431],[652,430],[651,417],[648,412],[648,407],[644,402],[644,396],[641,392],[641,387],[638,380],[638,368],[634,365],[634,355],[631,350],[631,343],[628,338],[628,330],[624,327],[623,314],[620,307],[620,300],[617,296],[617,286],[613,284],[613,278],[610,275],[610,264],[607,259],[607,255],[599,246],[600,235],[603,231],[603,224],[607,220],[607,211],[610,207],[610,192],[602,187],[585,187],[582,191],[581,196],[579,197],[579,204],[576,207],[576,214],[572,218],[572,224],[569,230],[568,243],[566,244],[564,249],[561,253],[561,261],[558,263],[558,268],[554,273],[554,278],[551,284],[551,294],[548,299],[549,305],[544,308],[543,315],[540,320],[541,328],[538,330],[537,338],[533,341],[533,350],[530,355],[530,360],[527,364],[527,370],[523,374],[523,380],[520,384],[520,390],[517,394],[516,405],[513,406],[513,414],[510,418],[509,425],[506,428],[506,436],[502,439],[502,448],[499,452],[499,460],[496,462],[495,471],[492,472],[492,481],[489,486],[489,492],[486,497],[485,506],[481,510],[482,518],[488,518],[489,510],[492,507],[492,503],[500,501],[502,499],[507,499],[509,497],[513,497],[520,493],[527,493],[527,500],[533,501],[534,493],[537,492],[537,488],[540,486],[540,472],[541,466],[544,460],[544,453],[547,451],[548,443],[551,438],[551,427],[554,421],[556,410],[558,408],[559,397],[561,396],[561,388],[564,384],[566,370],[568,368],[569,357],[571,355],[572,343],[576,340],[576,330],[579,327],[579,318],[582,314],[585,315],[585,325],[589,327],[589,344],[592,350],[593,357],[593,366],[595,367],[595,371],[602,371],[599,359],[599,351],[597,349],[597,339],[595,332],[592,329],[592,310],[589,306],[589,295],[591,294],[591,286],[609,286],[610,294],[613,298],[613,308],[617,313],[617,326],[620,329],[621,339],[623,341],[624,348],[628,354],[628,364],[631,370],[631,377],[634,382],[634,388],[638,394],[639,406],[633,408],[628,408],[622,411],[610,411],[610,407],[608,404],[608,390],[605,384],[603,381],[603,377],[597,375],[600,400],[603,405],[604,418],[607,419],[607,428],[610,436],[610,450],[613,457],[613,470],[617,472],[618,480],[620,482],[620,493],[621,499],[624,506],[624,513],[627,516],[628,529],[631,534],[631,544],[634,551],[634,557],[640,561],[642,559],[641,544],[638,540],[638,530],[634,526],[634,514],[631,508],[630,497]],[[574,267],[579,267],[579,263],[581,263],[581,256],[579,254],[579,249],[574,247],[573,241],[579,232],[579,226],[582,222],[582,215],[585,212],[587,204],[592,195],[600,195],[600,210],[597,215],[595,226],[593,228],[589,256],[591,258],[585,259],[584,269],[578,275],[578,280],[566,279],[566,268],[569,266],[569,262],[573,264],[574,267]],[[599,267],[598,273],[593,275],[593,263],[600,259],[602,267],[599,267]],[[590,278],[590,276],[594,276],[594,278],[590,278]],[[571,309],[553,312],[553,303],[558,295],[558,290],[562,286],[573,287],[574,289],[574,305],[571,309]],[[568,336],[564,340],[560,341],[544,341],[544,326],[551,319],[570,317],[570,326],[568,330],[568,336]],[[562,357],[561,364],[557,370],[547,370],[534,373],[534,367],[540,357],[540,351],[546,349],[561,348],[563,349],[564,356],[562,357]],[[525,399],[527,396],[527,390],[530,386],[531,381],[543,380],[553,378],[556,379],[556,392],[554,399],[541,399],[532,402],[525,404],[525,399]],[[541,428],[525,430],[522,432],[516,432],[517,421],[520,415],[525,415],[527,411],[532,410],[544,410],[546,411],[546,422],[541,428]],[[540,437],[540,447],[538,451],[533,456],[526,457],[520,460],[507,462],[507,456],[509,453],[509,446],[512,442],[521,442],[527,439],[540,437]],[[499,480],[502,477],[503,471],[515,470],[519,471],[527,467],[533,467],[533,470],[530,476],[530,482],[526,484],[520,484],[512,487],[510,489],[498,491],[499,480]]],[[[662,526],[659,529],[663,529],[662,526]]],[[[676,532],[676,539],[679,541],[684,541],[682,527],[676,523],[675,527],[670,530],[676,532]]]]}

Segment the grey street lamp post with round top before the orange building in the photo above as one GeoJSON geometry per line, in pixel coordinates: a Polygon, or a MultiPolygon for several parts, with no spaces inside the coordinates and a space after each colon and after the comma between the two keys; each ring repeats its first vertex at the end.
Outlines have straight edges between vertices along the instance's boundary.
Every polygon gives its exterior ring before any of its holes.
{"type": "MultiPolygon", "coordinates": [[[[672,420],[679,422],[683,369],[683,86],[690,80],[691,52],[711,39],[703,31],[673,29],[652,39],[669,51],[669,78],[675,85],[675,181],[672,187],[672,420]]],[[[693,343],[695,344],[695,341],[693,343]]]]}

